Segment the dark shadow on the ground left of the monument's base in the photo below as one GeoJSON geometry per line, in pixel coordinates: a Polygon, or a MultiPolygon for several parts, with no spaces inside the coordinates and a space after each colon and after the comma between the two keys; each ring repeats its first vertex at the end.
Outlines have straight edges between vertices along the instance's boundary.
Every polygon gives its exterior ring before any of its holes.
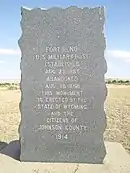
{"type": "Polygon", "coordinates": [[[15,160],[20,160],[20,142],[19,140],[11,141],[1,151],[1,154],[12,157],[15,160]]]}

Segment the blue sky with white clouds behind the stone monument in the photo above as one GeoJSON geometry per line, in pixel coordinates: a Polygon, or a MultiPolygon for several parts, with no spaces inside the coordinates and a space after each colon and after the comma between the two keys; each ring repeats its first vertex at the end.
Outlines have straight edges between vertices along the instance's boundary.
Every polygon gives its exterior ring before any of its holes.
{"type": "Polygon", "coordinates": [[[107,77],[130,79],[130,1],[129,0],[4,0],[0,2],[0,79],[20,79],[21,6],[106,8],[105,36],[108,64],[107,77]]]}

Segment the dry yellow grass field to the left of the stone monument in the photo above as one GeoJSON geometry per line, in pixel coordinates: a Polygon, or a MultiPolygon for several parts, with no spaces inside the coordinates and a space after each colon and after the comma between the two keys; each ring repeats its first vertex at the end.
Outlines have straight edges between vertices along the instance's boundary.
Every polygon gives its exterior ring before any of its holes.
{"type": "Polygon", "coordinates": [[[20,91],[0,89],[0,141],[18,139],[20,91]]]}

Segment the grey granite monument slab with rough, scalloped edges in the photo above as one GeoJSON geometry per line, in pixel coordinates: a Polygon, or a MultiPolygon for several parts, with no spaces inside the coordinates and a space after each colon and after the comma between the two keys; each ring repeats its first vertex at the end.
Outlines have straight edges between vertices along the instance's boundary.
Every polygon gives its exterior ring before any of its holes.
{"type": "Polygon", "coordinates": [[[104,20],[103,7],[22,8],[22,161],[103,162],[104,20]]]}

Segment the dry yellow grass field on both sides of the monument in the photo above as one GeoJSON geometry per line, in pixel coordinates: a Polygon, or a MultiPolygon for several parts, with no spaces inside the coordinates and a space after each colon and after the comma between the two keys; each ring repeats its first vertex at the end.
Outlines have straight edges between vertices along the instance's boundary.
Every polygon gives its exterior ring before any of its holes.
{"type": "MultiPolygon", "coordinates": [[[[20,91],[0,89],[0,141],[18,139],[20,91]]],[[[130,86],[108,86],[105,102],[105,140],[116,141],[130,152],[130,86]]]]}

